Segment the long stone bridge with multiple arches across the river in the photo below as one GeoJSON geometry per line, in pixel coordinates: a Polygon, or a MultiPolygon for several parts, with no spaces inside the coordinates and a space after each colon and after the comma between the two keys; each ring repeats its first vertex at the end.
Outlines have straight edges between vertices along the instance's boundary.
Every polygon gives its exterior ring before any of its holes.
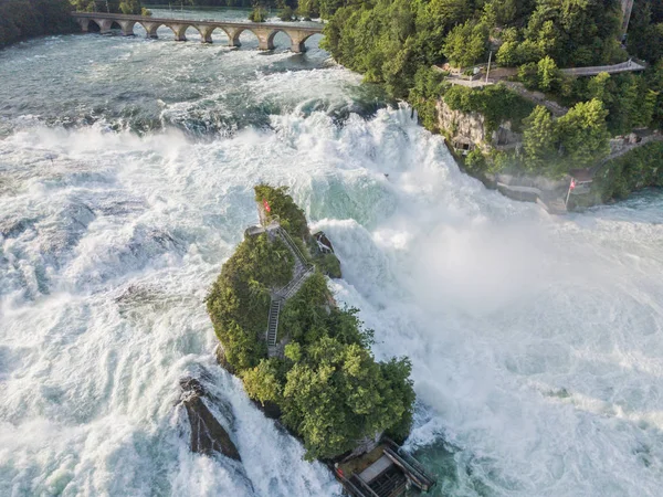
{"type": "Polygon", "coordinates": [[[117,24],[125,36],[133,35],[134,27],[140,24],[145,29],[147,38],[157,38],[157,30],[165,25],[172,30],[176,41],[187,41],[185,33],[188,28],[193,28],[200,33],[202,43],[211,43],[212,32],[215,29],[221,29],[228,35],[229,46],[240,46],[240,34],[249,30],[257,38],[260,50],[274,50],[274,36],[278,32],[284,32],[291,39],[291,50],[295,53],[304,52],[306,40],[314,34],[322,33],[324,28],[323,24],[293,25],[269,24],[265,22],[192,21],[104,12],[72,12],[72,17],[81,24],[83,32],[88,31],[91,22],[98,25],[102,34],[109,32],[110,28],[117,24]]]}

